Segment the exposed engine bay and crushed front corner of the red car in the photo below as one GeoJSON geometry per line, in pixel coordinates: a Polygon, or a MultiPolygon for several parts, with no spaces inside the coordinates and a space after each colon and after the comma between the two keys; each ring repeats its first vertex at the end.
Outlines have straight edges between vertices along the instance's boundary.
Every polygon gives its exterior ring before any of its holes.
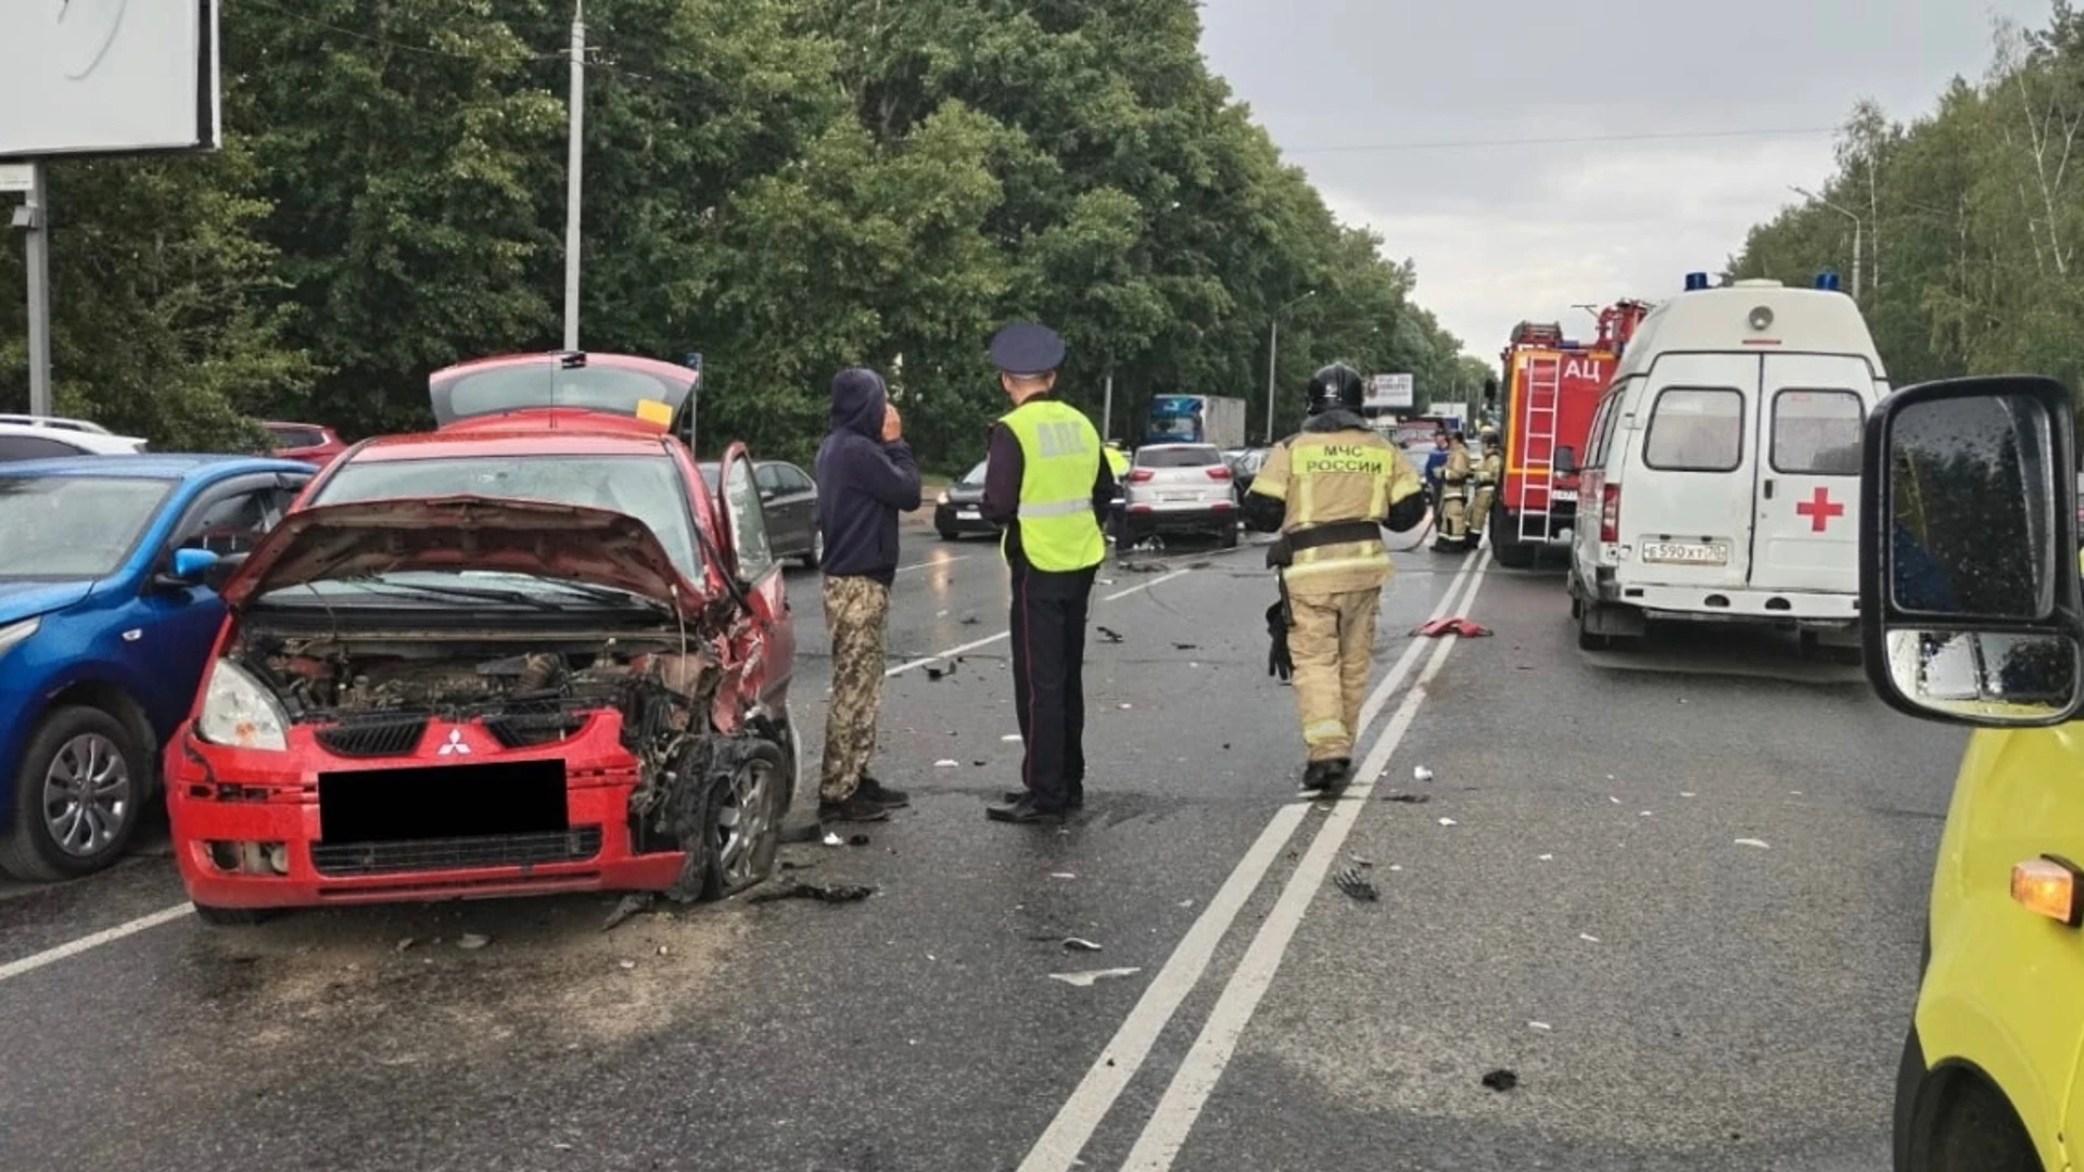
{"type": "MultiPolygon", "coordinates": [[[[621,747],[638,772],[631,847],[686,853],[681,878],[667,893],[675,899],[717,895],[713,859],[729,838],[719,840],[719,801],[727,805],[748,761],[782,761],[792,749],[786,728],[759,713],[734,732],[715,726],[723,653],[721,642],[684,644],[673,630],[515,640],[265,628],[248,628],[229,651],[279,699],[292,724],[313,728],[338,757],[413,755],[436,719],[481,724],[508,751],[544,749],[617,713],[621,747]]],[[[786,776],[792,780],[794,770],[786,776]]],[[[777,824],[779,813],[771,820],[777,824]]],[[[740,820],[725,811],[721,822],[740,820]]]]}

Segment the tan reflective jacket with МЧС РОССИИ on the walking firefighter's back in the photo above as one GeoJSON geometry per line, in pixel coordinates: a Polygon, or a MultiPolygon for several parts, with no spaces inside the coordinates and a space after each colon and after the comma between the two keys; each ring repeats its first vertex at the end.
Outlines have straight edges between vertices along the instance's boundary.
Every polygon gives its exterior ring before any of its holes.
{"type": "MultiPolygon", "coordinates": [[[[1425,490],[1425,482],[1390,440],[1369,430],[1302,432],[1273,446],[1252,478],[1252,492],[1288,505],[1282,532],[1334,521],[1386,519],[1390,505],[1425,490]]],[[[1296,551],[1284,571],[1298,596],[1378,590],[1396,567],[1382,538],[1296,551]]]]}

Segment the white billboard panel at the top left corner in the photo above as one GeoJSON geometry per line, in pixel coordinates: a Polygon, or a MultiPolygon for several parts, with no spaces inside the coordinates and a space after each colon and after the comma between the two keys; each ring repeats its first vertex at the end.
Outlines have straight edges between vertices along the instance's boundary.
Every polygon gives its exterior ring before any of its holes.
{"type": "Polygon", "coordinates": [[[0,0],[0,158],[208,150],[219,0],[0,0]]]}

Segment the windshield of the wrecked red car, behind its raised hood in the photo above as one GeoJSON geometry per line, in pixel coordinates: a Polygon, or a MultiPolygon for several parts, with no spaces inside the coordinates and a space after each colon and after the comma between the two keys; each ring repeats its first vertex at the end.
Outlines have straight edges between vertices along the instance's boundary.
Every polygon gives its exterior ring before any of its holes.
{"type": "Polygon", "coordinates": [[[688,511],[688,486],[679,465],[663,453],[356,461],[325,482],[313,505],[436,496],[513,496],[623,513],[650,528],[684,576],[700,578],[702,559],[688,511]]]}

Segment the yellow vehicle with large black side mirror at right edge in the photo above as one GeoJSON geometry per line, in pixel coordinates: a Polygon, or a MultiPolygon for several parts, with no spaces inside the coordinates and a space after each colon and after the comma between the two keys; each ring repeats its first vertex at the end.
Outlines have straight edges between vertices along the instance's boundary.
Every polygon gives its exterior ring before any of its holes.
{"type": "Polygon", "coordinates": [[[1861,626],[1899,711],[1982,728],[1932,876],[1899,1172],[2084,1172],[2084,599],[2076,423],[2040,377],[1867,421],[1861,626]]]}

